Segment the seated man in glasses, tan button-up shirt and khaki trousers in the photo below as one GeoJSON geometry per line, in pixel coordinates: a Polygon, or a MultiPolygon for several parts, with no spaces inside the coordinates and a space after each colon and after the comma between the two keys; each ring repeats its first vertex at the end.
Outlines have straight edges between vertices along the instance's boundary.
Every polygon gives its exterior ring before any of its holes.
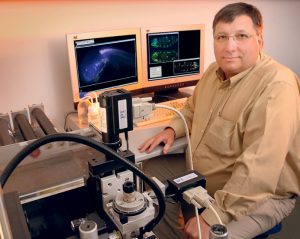
{"type": "MultiPolygon", "coordinates": [[[[256,7],[233,3],[222,8],[213,22],[216,62],[182,110],[194,169],[206,177],[230,238],[252,238],[272,228],[292,211],[300,193],[300,86],[292,71],[262,53],[262,33],[256,7]]],[[[139,150],[150,152],[163,142],[167,153],[182,136],[184,127],[175,118],[139,150]]],[[[156,160],[157,167],[165,163],[170,171],[177,164],[177,173],[183,165],[167,161],[156,160]]],[[[202,238],[217,222],[205,209],[202,238]]],[[[184,236],[198,238],[195,218],[186,223],[184,236]]]]}

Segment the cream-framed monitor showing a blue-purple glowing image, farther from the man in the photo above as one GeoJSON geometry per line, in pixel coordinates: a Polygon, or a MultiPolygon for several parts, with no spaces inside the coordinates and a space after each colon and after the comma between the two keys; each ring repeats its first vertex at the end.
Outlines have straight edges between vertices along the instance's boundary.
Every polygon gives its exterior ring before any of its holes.
{"type": "Polygon", "coordinates": [[[75,107],[87,93],[141,89],[140,29],[67,35],[75,107]]]}

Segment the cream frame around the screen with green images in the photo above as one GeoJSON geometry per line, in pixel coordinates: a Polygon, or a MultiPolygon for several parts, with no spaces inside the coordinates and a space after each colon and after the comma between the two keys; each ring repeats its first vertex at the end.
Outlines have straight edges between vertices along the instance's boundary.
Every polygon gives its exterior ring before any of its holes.
{"type": "Polygon", "coordinates": [[[155,92],[168,89],[182,88],[186,86],[196,85],[203,75],[204,71],[204,30],[203,24],[162,26],[162,27],[143,27],[141,28],[141,45],[142,45],[142,67],[143,67],[143,92],[155,92]],[[198,74],[168,77],[159,80],[151,80],[148,78],[148,47],[147,34],[182,32],[190,30],[200,31],[200,72],[198,74]]]}

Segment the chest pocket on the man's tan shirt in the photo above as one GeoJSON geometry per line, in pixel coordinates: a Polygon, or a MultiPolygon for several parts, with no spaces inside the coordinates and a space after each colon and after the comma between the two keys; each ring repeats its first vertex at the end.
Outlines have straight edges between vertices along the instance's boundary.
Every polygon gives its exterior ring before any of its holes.
{"type": "Polygon", "coordinates": [[[236,155],[238,145],[236,145],[237,142],[234,142],[235,126],[236,122],[226,120],[218,115],[208,129],[204,144],[215,154],[229,157],[236,155]]]}

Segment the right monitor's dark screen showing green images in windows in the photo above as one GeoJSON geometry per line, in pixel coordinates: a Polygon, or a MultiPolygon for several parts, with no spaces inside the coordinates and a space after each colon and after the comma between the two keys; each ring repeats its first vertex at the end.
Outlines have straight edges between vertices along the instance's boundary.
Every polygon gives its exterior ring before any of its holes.
{"type": "Polygon", "coordinates": [[[148,79],[200,73],[200,30],[147,34],[148,79]]]}

